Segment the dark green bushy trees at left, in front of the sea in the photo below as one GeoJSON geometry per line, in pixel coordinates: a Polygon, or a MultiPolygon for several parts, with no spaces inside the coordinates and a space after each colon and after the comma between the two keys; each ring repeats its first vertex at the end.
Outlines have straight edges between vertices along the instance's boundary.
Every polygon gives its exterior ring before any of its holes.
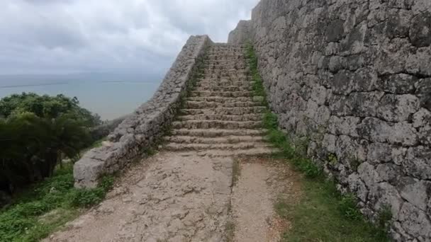
{"type": "Polygon", "coordinates": [[[60,161],[74,159],[91,144],[89,128],[99,123],[77,98],[34,93],[2,98],[0,190],[13,193],[50,178],[60,161]]]}

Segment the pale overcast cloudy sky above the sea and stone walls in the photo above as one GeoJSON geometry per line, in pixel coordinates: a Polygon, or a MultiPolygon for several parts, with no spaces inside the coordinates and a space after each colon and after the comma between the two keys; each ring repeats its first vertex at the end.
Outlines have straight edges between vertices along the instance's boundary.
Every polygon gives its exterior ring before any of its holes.
{"type": "Polygon", "coordinates": [[[189,35],[225,42],[258,0],[1,0],[0,74],[147,72],[189,35]]]}

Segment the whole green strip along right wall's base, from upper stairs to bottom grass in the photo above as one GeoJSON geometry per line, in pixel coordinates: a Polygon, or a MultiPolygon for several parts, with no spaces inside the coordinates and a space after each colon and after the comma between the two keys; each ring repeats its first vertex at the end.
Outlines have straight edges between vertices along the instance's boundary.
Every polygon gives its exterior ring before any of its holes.
{"type": "MultiPolygon", "coordinates": [[[[266,96],[262,79],[257,69],[257,57],[252,45],[247,47],[250,71],[253,76],[254,96],[266,96]]],[[[266,98],[262,103],[267,105],[266,98]]],[[[354,195],[342,195],[333,181],[325,177],[322,168],[306,157],[308,138],[293,140],[279,129],[277,116],[264,114],[263,127],[268,130],[267,139],[279,149],[277,157],[289,161],[293,168],[304,174],[303,197],[297,204],[279,200],[276,212],[288,219],[292,228],[283,236],[283,241],[388,241],[388,209],[381,212],[377,224],[364,219],[357,207],[354,195]]],[[[328,156],[330,163],[337,163],[334,154],[328,156]]],[[[357,162],[353,162],[357,165],[357,162]]]]}

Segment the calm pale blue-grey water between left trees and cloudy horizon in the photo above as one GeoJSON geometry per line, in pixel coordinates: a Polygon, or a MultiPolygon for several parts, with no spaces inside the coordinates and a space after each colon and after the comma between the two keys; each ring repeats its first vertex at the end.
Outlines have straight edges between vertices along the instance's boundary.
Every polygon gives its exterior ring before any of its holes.
{"type": "Polygon", "coordinates": [[[0,98],[14,93],[37,93],[39,95],[56,96],[63,94],[77,97],[82,107],[98,113],[102,120],[113,120],[133,113],[142,103],[149,100],[161,81],[138,81],[129,79],[91,80],[91,81],[54,81],[29,83],[28,81],[9,81],[0,79],[0,98]],[[3,84],[3,85],[2,85],[3,84]]]}

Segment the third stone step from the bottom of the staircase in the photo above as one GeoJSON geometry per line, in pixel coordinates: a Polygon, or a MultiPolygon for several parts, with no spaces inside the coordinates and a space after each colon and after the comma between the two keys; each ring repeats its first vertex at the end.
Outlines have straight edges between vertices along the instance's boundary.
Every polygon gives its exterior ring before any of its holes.
{"type": "Polygon", "coordinates": [[[196,137],[196,136],[169,136],[164,141],[175,144],[237,144],[241,142],[263,142],[262,136],[235,136],[225,137],[196,137]]]}

